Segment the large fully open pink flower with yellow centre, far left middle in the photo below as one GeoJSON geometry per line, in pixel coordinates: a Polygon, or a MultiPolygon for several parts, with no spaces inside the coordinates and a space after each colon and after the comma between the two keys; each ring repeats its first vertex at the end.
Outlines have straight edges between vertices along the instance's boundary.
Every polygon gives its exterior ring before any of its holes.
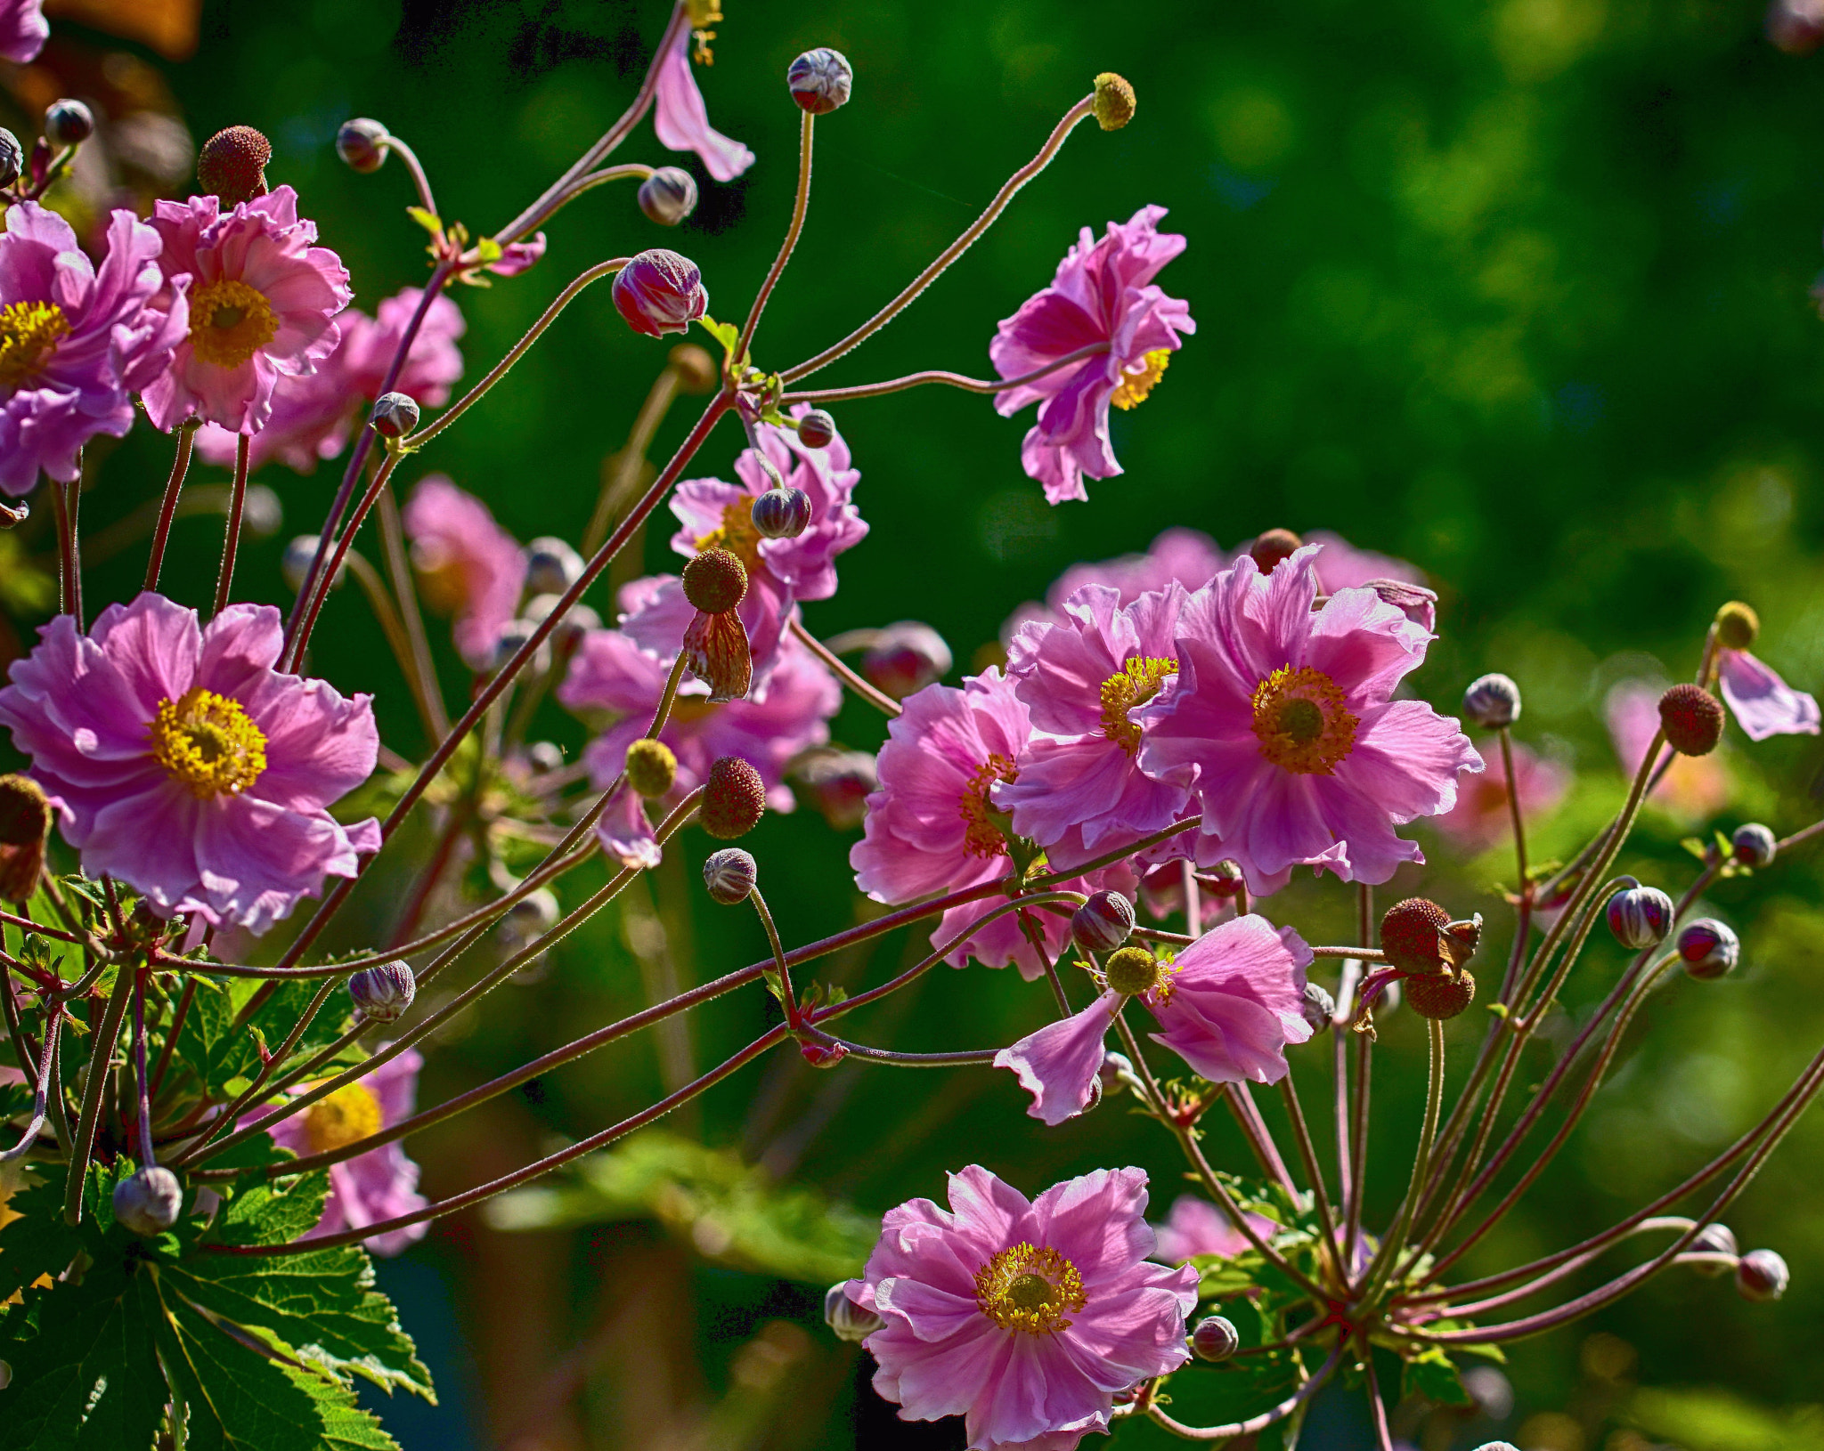
{"type": "Polygon", "coordinates": [[[162,915],[264,931],[379,849],[372,818],[341,826],[325,809],[374,771],[368,696],[275,671],[283,634],[270,605],[201,627],[140,594],[88,636],[58,616],[13,664],[0,724],[60,798],[86,873],[113,873],[162,915]]]}

